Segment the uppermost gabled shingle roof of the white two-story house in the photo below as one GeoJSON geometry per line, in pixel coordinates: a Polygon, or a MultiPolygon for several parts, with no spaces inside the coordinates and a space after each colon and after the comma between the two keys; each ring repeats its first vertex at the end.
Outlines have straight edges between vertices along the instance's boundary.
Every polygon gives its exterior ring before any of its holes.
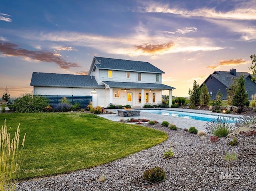
{"type": "Polygon", "coordinates": [[[89,74],[94,68],[105,70],[120,70],[120,71],[136,71],[145,73],[162,73],[164,72],[154,65],[144,62],[144,61],[132,61],[132,60],[122,60],[114,58],[104,58],[104,57],[94,57],[92,65],[89,70],[89,74]],[[95,63],[97,61],[97,63],[95,63]]]}

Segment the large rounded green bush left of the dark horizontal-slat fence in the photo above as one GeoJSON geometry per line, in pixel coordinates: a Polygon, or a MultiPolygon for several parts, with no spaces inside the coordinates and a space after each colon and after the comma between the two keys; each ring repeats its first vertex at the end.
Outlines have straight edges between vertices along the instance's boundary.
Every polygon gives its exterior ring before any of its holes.
{"type": "Polygon", "coordinates": [[[14,100],[14,104],[10,105],[9,109],[20,113],[44,112],[48,101],[44,96],[26,93],[14,100]]]}

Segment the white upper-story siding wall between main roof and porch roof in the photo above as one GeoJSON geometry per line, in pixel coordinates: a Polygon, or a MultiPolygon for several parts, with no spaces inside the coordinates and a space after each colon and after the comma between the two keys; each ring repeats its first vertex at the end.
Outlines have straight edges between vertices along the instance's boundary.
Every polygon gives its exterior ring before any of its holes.
{"type": "Polygon", "coordinates": [[[103,85],[102,81],[112,82],[132,82],[132,83],[162,83],[162,75],[159,74],[159,82],[156,82],[155,73],[141,73],[141,81],[137,81],[137,74],[139,72],[130,72],[130,79],[126,79],[126,71],[112,71],[112,78],[108,78],[108,70],[95,70],[95,79],[99,85],[103,85]],[[98,76],[96,74],[98,73],[98,76]]]}

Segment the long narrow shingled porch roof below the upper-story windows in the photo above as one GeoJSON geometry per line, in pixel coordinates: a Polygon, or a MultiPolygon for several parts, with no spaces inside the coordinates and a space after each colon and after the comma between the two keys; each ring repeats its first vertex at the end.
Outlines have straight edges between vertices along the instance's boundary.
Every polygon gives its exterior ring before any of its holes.
{"type": "Polygon", "coordinates": [[[164,85],[164,84],[154,84],[154,83],[131,83],[131,82],[108,82],[103,81],[104,85],[111,88],[138,88],[138,89],[161,89],[161,90],[173,90],[174,87],[164,85]]]}

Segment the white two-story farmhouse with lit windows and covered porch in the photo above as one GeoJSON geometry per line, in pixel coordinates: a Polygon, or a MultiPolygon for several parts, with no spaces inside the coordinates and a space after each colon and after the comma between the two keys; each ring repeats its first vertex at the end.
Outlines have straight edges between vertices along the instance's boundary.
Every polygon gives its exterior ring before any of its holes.
{"type": "MultiPolygon", "coordinates": [[[[88,75],[33,72],[30,85],[37,95],[92,96],[93,106],[131,106],[161,102],[164,72],[148,62],[94,57],[88,75]]],[[[172,102],[169,102],[171,105],[172,102]]]]}

